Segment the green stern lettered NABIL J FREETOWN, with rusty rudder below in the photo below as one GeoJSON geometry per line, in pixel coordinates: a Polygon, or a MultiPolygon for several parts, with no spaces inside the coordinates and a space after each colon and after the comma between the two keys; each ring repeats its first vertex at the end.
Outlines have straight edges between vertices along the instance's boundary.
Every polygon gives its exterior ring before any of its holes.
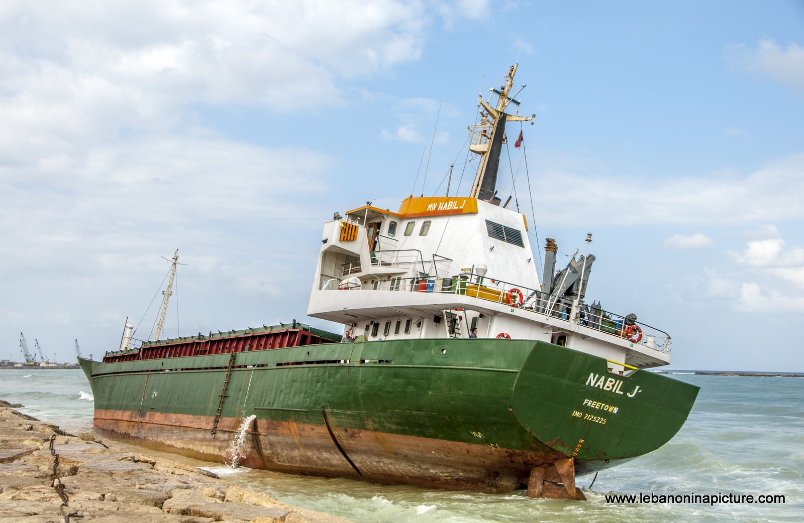
{"type": "Polygon", "coordinates": [[[654,451],[686,421],[699,387],[648,370],[613,374],[610,367],[605,358],[543,342],[531,350],[516,378],[514,414],[568,460],[534,469],[529,496],[583,496],[576,474],[654,451]]]}

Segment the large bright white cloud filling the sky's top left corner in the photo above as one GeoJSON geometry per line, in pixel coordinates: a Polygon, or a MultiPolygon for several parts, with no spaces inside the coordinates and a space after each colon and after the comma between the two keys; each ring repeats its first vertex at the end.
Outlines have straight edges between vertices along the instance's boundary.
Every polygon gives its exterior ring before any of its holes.
{"type": "Polygon", "coordinates": [[[427,20],[401,0],[13,2],[5,18],[6,102],[74,125],[109,107],[154,125],[194,103],[338,104],[338,77],[417,59],[427,20]]]}

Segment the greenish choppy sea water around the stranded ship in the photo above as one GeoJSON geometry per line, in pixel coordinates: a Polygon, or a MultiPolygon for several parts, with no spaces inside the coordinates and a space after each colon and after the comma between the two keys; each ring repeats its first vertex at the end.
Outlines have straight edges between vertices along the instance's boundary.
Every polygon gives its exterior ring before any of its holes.
{"type": "MultiPolygon", "coordinates": [[[[556,521],[691,523],[804,521],[804,378],[677,375],[701,387],[689,419],[669,443],[597,476],[578,478],[589,501],[449,492],[293,476],[163,455],[207,468],[290,505],[360,523],[556,521]],[[774,503],[615,502],[606,496],[718,494],[784,496],[774,503]]],[[[0,370],[0,398],[66,431],[92,427],[92,395],[80,370],[0,370]]],[[[154,451],[143,450],[146,454],[154,451]]]]}

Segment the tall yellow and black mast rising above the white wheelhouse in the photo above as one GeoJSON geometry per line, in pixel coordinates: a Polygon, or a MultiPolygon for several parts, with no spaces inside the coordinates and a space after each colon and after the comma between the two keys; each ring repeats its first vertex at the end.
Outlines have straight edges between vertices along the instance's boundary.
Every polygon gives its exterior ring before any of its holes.
{"type": "MultiPolygon", "coordinates": [[[[486,202],[494,200],[497,186],[497,170],[499,167],[500,153],[503,152],[503,138],[505,137],[505,125],[509,121],[530,121],[531,125],[536,115],[519,116],[519,100],[511,96],[511,89],[514,87],[514,75],[519,63],[515,63],[508,70],[508,74],[503,80],[501,88],[491,88],[490,91],[498,96],[496,107],[491,107],[483,100],[482,94],[478,94],[478,106],[482,114],[480,123],[470,125],[470,151],[480,155],[478,173],[474,177],[470,198],[478,198],[486,202]],[[505,109],[510,105],[516,106],[516,114],[507,114],[505,109]]],[[[524,89],[523,85],[519,92],[524,89]]],[[[517,94],[519,94],[517,92],[517,94]]],[[[496,202],[499,202],[497,198],[496,202]]]]}

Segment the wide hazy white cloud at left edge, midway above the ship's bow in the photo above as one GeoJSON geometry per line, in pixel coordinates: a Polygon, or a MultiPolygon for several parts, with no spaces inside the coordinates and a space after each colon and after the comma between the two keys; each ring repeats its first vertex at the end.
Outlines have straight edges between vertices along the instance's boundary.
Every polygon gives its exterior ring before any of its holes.
{"type": "Polygon", "coordinates": [[[142,259],[131,253],[148,245],[227,244],[225,227],[278,224],[289,215],[304,226],[310,207],[291,195],[303,186],[314,201],[332,161],[302,148],[175,135],[111,141],[64,162],[32,159],[7,182],[0,178],[0,272],[64,270],[78,258],[89,270],[136,271],[142,259]]]}

